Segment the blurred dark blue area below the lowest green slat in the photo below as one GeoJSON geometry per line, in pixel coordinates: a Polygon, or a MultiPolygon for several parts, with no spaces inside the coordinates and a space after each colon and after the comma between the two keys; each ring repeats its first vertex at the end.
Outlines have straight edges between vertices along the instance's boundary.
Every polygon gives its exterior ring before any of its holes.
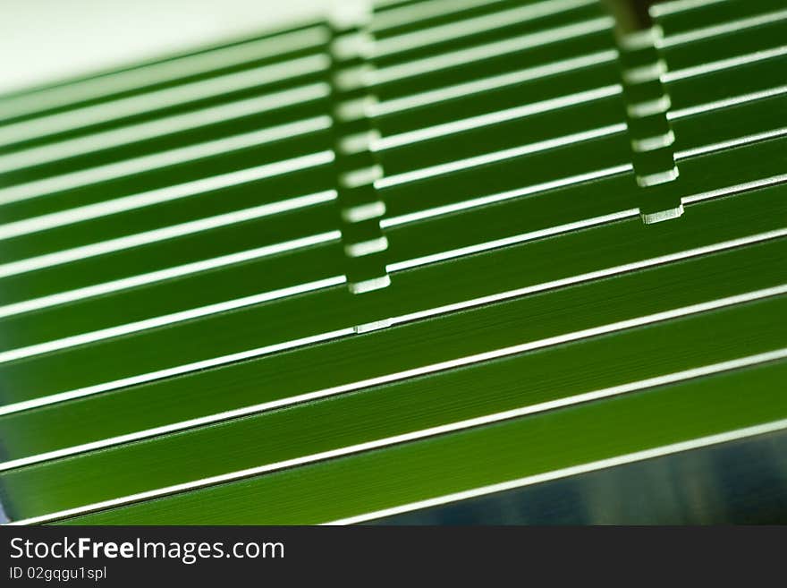
{"type": "Polygon", "coordinates": [[[787,524],[787,432],[620,465],[372,524],[787,524]]]}

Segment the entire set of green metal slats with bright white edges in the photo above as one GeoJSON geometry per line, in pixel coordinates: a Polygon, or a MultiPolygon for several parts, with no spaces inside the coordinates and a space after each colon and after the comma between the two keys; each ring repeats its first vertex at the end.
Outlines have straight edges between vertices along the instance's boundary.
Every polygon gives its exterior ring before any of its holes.
{"type": "Polygon", "coordinates": [[[787,427],[783,0],[655,12],[680,175],[647,189],[600,3],[434,2],[372,24],[391,277],[374,293],[345,284],[336,178],[354,160],[334,161],[325,24],[264,38],[268,55],[247,39],[202,69],[40,89],[25,115],[0,97],[12,521],[317,524],[787,427]],[[550,9],[501,16],[531,4],[550,9]],[[278,125],[295,130],[222,142],[278,125]],[[644,225],[656,197],[683,216],[644,225]],[[532,413],[428,432],[514,409],[532,413]]]}

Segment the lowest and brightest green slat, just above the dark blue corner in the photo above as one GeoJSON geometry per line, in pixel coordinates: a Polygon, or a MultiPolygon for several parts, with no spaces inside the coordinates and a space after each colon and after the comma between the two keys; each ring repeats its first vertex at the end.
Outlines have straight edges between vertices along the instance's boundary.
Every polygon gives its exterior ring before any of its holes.
{"type": "Polygon", "coordinates": [[[698,379],[71,522],[325,523],[783,418],[785,367],[698,379]]]}

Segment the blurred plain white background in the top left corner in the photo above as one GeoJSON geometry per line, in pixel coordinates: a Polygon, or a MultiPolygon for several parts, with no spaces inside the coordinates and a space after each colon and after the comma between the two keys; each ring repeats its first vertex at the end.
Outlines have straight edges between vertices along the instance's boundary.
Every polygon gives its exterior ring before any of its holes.
{"type": "Polygon", "coordinates": [[[251,36],[327,0],[0,0],[0,93],[251,36]]]}

